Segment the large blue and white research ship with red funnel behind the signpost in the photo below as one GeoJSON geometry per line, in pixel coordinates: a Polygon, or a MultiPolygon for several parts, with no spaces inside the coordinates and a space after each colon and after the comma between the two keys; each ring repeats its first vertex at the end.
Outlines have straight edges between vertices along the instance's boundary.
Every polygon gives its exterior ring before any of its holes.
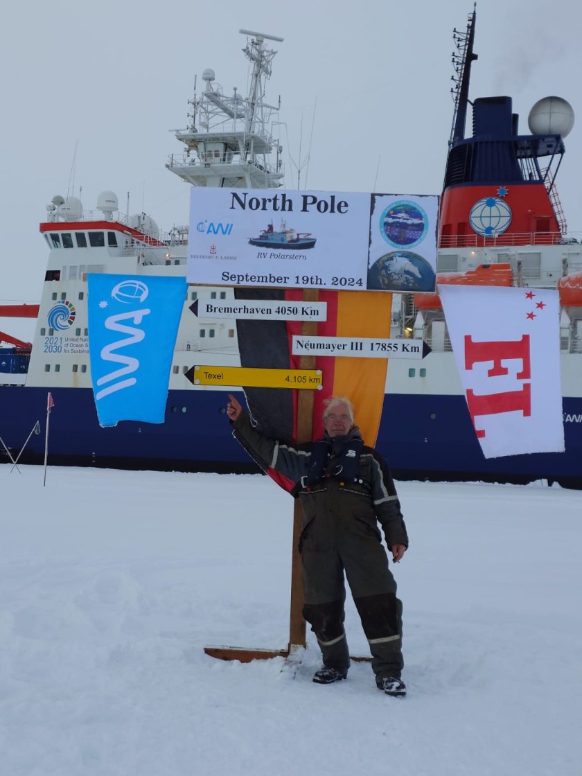
{"type": "MultiPolygon", "coordinates": [[[[511,98],[469,100],[476,14],[455,30],[452,131],[442,189],[438,282],[557,288],[566,452],[485,459],[456,372],[438,294],[402,293],[386,314],[392,337],[423,339],[431,352],[417,365],[390,359],[377,446],[395,476],[408,479],[528,482],[582,487],[582,245],[568,230],[556,188],[573,110],[556,96],[541,99],[521,133],[511,98]],[[473,133],[466,136],[472,110],[473,133]]],[[[272,131],[276,106],[265,100],[274,36],[241,30],[251,68],[248,95],[226,95],[203,72],[192,121],[176,138],[168,170],[189,185],[269,189],[282,185],[282,147],[272,131]]],[[[322,182],[324,183],[324,182],[322,182]]],[[[407,213],[386,230],[415,234],[407,213]]],[[[0,456],[41,462],[47,392],[49,461],[54,464],[191,471],[248,471],[255,465],[235,444],[224,417],[225,393],[185,378],[196,364],[239,365],[237,322],[199,318],[196,300],[233,300],[230,288],[189,286],[175,344],[164,424],[123,421],[100,428],[88,360],[86,275],[111,272],[185,275],[188,227],[162,232],[144,213],[122,213],[113,192],[86,212],[55,196],[40,233],[49,251],[32,343],[0,334],[0,456]],[[36,427],[36,421],[39,421],[36,427]]],[[[264,233],[263,233],[264,234],[264,233]]],[[[7,314],[5,308],[0,315],[7,314]]],[[[2,460],[2,457],[0,457],[2,460]]]]}

